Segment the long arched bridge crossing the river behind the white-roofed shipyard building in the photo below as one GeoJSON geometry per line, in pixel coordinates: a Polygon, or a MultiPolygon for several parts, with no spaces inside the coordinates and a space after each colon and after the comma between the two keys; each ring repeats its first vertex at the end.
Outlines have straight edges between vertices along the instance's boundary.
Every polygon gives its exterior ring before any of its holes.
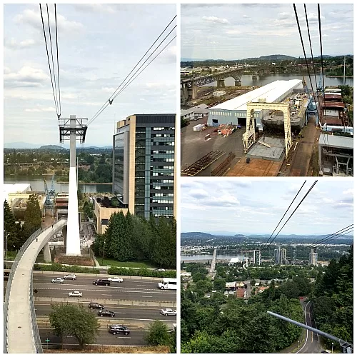
{"type": "MultiPolygon", "coordinates": [[[[262,66],[237,66],[235,68],[228,69],[226,71],[216,72],[213,74],[206,74],[206,76],[198,76],[191,79],[182,79],[181,80],[181,102],[185,104],[191,99],[197,98],[197,88],[199,86],[204,86],[205,84],[217,82],[217,88],[224,88],[224,79],[232,77],[235,80],[236,86],[241,86],[241,77],[244,72],[250,72],[254,77],[261,76],[263,74],[270,74],[276,71],[276,69],[287,69],[287,68],[296,68],[294,65],[262,65],[262,66]]],[[[301,67],[305,69],[306,67],[301,67]]]]}

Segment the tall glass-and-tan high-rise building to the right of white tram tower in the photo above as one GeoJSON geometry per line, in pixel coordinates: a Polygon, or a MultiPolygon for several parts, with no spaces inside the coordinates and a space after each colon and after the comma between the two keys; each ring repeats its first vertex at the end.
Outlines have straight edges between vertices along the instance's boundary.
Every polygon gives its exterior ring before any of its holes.
{"type": "Polygon", "coordinates": [[[176,114],[136,114],[116,125],[113,193],[131,213],[176,216],[176,114]]]}

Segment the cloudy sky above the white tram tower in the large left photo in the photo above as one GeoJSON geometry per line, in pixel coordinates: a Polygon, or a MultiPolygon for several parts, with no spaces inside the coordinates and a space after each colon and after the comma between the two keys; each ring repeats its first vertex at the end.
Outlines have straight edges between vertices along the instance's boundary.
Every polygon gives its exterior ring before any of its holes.
{"type": "MultiPolygon", "coordinates": [[[[58,4],[61,118],[91,119],[175,15],[175,4],[58,4]]],[[[176,40],[89,126],[86,145],[111,145],[131,114],[175,111],[176,40]]],[[[4,142],[17,141],[59,144],[39,4],[4,6],[4,142]]]]}

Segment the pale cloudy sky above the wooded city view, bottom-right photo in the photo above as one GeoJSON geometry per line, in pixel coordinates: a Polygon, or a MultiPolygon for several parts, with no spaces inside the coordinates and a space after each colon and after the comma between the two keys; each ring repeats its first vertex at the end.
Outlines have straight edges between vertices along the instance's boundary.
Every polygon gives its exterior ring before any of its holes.
{"type": "MultiPolygon", "coordinates": [[[[181,231],[271,234],[303,181],[181,178],[181,231]]],[[[313,181],[307,179],[283,223],[313,181]]],[[[352,223],[353,182],[319,179],[281,234],[331,234],[352,223]]]]}

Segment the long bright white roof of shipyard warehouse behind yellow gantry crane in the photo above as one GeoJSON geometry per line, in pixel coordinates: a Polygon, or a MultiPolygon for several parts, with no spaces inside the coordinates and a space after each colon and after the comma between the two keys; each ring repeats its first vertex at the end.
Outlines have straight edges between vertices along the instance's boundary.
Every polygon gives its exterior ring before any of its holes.
{"type": "Polygon", "coordinates": [[[236,98],[224,101],[221,104],[212,106],[212,109],[223,110],[244,110],[246,111],[246,104],[250,101],[257,102],[258,99],[265,99],[267,103],[273,103],[280,96],[292,89],[303,89],[302,81],[300,79],[291,79],[290,81],[273,81],[266,86],[262,86],[246,94],[237,96],[236,98]]]}

